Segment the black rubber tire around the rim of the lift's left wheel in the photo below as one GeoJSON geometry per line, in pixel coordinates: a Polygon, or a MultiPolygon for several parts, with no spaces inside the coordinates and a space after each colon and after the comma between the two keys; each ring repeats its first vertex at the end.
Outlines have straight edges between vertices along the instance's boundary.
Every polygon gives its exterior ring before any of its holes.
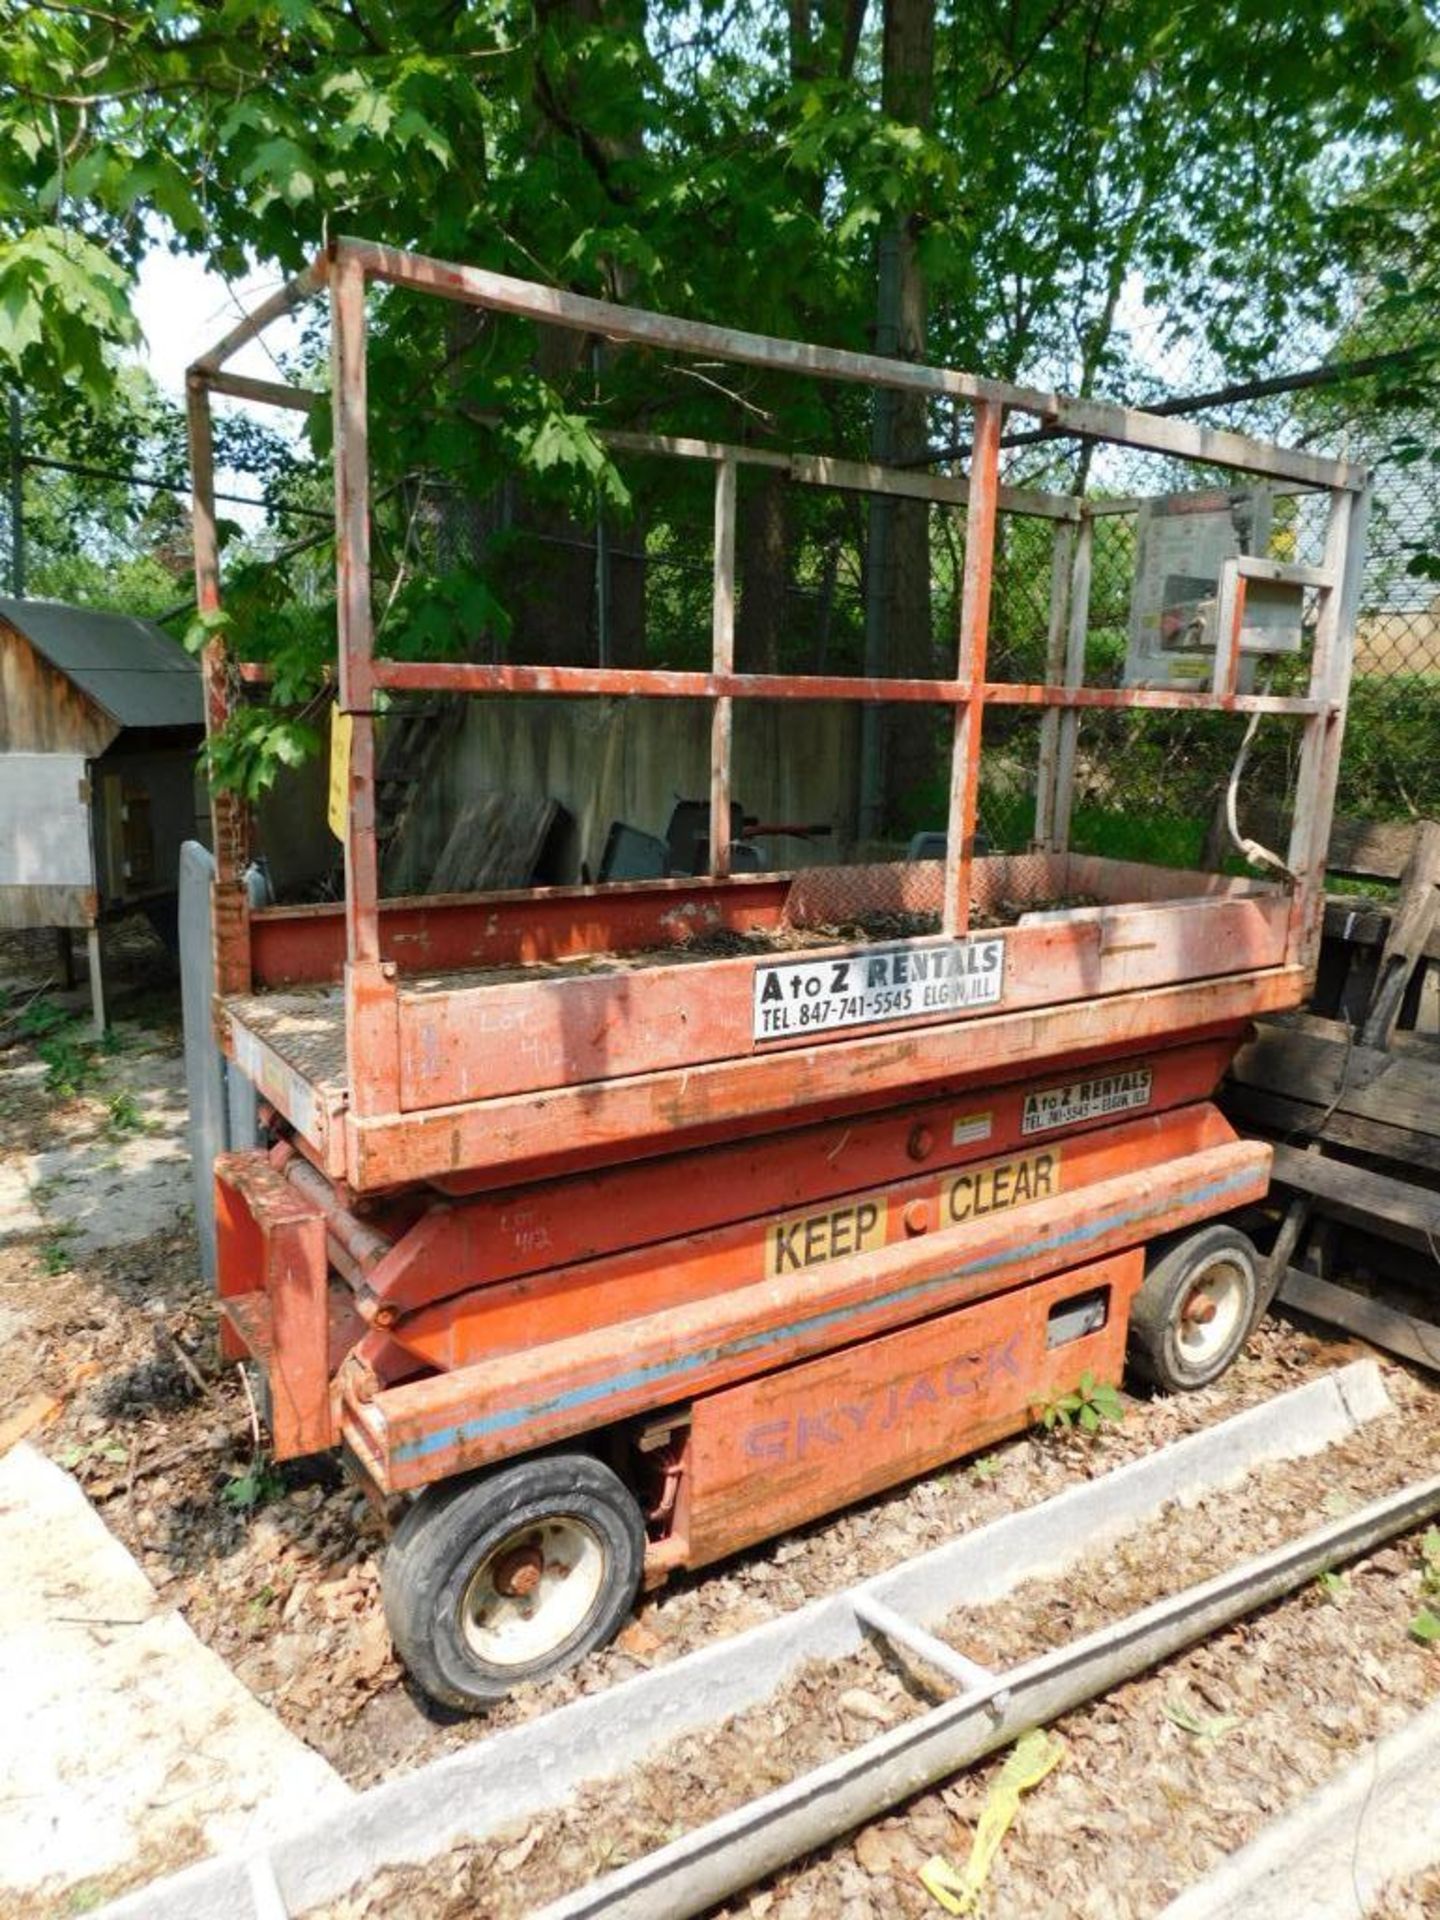
{"type": "Polygon", "coordinates": [[[572,1667],[614,1636],[639,1586],[645,1523],[618,1475],[589,1453],[545,1453],[478,1478],[426,1488],[386,1553],[390,1638],[415,1684],[444,1707],[478,1711],[524,1680],[572,1667]],[[545,1521],[578,1521],[599,1542],[599,1590],[586,1617],[543,1655],[486,1661],[467,1640],[463,1603],[495,1548],[545,1521]]]}

